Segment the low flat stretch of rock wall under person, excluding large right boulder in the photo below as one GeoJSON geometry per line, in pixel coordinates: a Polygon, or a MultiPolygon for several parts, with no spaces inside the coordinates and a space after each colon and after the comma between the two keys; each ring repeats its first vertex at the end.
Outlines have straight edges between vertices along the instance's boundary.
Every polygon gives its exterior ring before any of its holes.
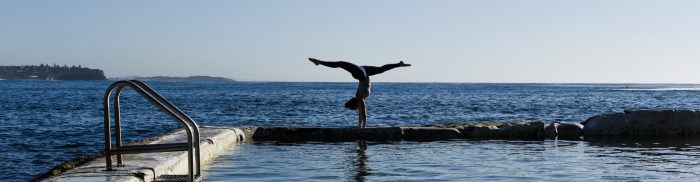
{"type": "Polygon", "coordinates": [[[518,139],[544,140],[559,135],[580,139],[583,128],[578,123],[541,121],[463,123],[450,126],[386,127],[386,128],[318,128],[318,127],[252,127],[245,129],[255,141],[434,141],[450,139],[518,139]],[[549,127],[550,133],[545,134],[549,127]],[[557,132],[557,129],[563,132],[557,132]]]}

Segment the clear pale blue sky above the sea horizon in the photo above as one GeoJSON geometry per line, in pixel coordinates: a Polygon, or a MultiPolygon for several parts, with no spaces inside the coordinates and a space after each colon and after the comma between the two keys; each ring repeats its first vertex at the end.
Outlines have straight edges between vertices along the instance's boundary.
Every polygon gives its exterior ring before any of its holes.
{"type": "Polygon", "coordinates": [[[700,1],[0,1],[0,64],[108,77],[700,83],[700,1]]]}

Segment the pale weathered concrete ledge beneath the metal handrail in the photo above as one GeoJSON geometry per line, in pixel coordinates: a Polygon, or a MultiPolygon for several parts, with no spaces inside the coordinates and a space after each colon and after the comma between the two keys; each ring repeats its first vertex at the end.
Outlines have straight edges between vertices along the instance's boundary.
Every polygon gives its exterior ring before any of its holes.
{"type": "MultiPolygon", "coordinates": [[[[200,128],[202,165],[219,156],[239,142],[245,140],[244,131],[237,128],[200,128]]],[[[171,132],[154,137],[148,142],[138,144],[175,143],[186,140],[184,130],[171,132]]],[[[38,181],[69,182],[69,181],[153,181],[163,174],[187,174],[187,152],[165,152],[147,154],[123,155],[123,167],[115,167],[113,171],[105,170],[104,157],[82,164],[74,169],[56,176],[38,181]]],[[[116,156],[113,156],[116,161],[116,156]]]]}

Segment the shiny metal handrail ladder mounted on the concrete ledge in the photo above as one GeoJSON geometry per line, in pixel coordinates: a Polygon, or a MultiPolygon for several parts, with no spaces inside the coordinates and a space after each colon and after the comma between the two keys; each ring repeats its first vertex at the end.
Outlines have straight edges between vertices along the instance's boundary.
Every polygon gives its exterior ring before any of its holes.
{"type": "Polygon", "coordinates": [[[155,152],[174,152],[187,151],[188,174],[187,175],[162,175],[156,178],[156,181],[190,181],[196,182],[202,180],[202,170],[199,150],[199,128],[192,118],[175,107],[168,100],[158,94],[153,88],[138,80],[121,80],[114,82],[107,88],[104,95],[104,128],[105,128],[105,157],[107,159],[107,170],[112,170],[112,155],[117,156],[117,166],[123,166],[122,154],[138,154],[138,153],[155,153],[155,152]],[[149,144],[149,145],[122,145],[121,134],[121,116],[119,111],[119,95],[124,88],[130,87],[139,95],[143,96],[155,105],[170,118],[180,123],[187,133],[187,143],[168,143],[168,144],[149,144]],[[114,131],[116,144],[113,146],[111,141],[111,125],[109,112],[109,97],[114,93],[114,131]]]}

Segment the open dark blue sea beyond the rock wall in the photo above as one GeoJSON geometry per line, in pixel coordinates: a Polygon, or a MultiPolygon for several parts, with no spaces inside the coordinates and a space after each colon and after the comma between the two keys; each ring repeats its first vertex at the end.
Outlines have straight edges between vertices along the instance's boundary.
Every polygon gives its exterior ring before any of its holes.
{"type": "MultiPolygon", "coordinates": [[[[27,181],[66,160],[100,151],[104,147],[102,97],[111,83],[0,80],[0,179],[27,181]]],[[[202,125],[357,124],[357,113],[343,108],[354,95],[356,83],[149,84],[202,125]]],[[[367,99],[368,126],[523,119],[580,122],[624,109],[699,109],[698,88],[700,85],[374,83],[367,99]]],[[[178,128],[133,91],[127,90],[121,98],[126,142],[178,128]]]]}

